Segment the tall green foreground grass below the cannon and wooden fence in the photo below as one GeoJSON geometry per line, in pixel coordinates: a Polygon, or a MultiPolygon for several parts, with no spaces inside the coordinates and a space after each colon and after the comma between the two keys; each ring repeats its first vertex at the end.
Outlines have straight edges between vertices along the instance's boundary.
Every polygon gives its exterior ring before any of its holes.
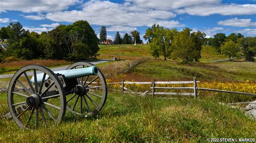
{"type": "MultiPolygon", "coordinates": [[[[0,95],[0,113],[7,109],[0,95]]],[[[238,109],[213,99],[143,98],[110,93],[92,118],[66,113],[59,126],[22,130],[0,118],[1,141],[203,141],[207,138],[254,138],[256,122],[238,109]]]]}

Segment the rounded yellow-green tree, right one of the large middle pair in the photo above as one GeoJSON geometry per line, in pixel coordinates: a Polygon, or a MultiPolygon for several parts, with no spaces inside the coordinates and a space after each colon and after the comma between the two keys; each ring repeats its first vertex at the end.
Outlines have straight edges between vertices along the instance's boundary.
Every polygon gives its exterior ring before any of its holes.
{"type": "Polygon", "coordinates": [[[179,32],[174,36],[173,43],[171,46],[171,57],[173,59],[181,59],[183,63],[198,61],[201,58],[201,45],[203,44],[205,34],[193,32],[190,28],[184,28],[183,31],[179,32]]]}

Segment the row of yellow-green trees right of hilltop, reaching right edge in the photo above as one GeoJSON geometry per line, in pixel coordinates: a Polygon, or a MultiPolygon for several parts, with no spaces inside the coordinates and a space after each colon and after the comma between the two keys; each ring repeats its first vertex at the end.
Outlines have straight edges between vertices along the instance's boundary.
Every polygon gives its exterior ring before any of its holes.
{"type": "Polygon", "coordinates": [[[181,59],[183,63],[198,62],[202,45],[214,47],[219,54],[227,55],[230,60],[244,58],[246,61],[254,61],[256,54],[256,37],[244,37],[241,33],[231,33],[227,37],[224,33],[217,33],[214,38],[206,38],[205,33],[192,32],[190,28],[178,32],[176,28],[154,24],[147,28],[143,38],[149,41],[151,55],[155,58],[164,56],[165,60],[181,59]]]}

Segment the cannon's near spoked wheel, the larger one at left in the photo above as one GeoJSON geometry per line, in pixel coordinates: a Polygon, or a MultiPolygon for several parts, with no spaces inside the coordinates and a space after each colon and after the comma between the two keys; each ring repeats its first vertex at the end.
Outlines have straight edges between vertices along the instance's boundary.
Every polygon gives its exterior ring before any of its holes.
{"type": "Polygon", "coordinates": [[[8,105],[19,127],[37,129],[60,123],[66,111],[66,97],[53,71],[30,65],[19,69],[11,78],[8,105]]]}

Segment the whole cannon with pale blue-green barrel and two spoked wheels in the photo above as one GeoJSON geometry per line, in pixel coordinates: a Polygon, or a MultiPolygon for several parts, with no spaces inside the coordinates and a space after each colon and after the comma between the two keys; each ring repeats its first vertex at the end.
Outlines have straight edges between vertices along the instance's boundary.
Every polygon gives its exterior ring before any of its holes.
{"type": "Polygon", "coordinates": [[[95,116],[106,98],[102,71],[87,62],[54,72],[41,65],[28,65],[14,74],[8,88],[9,115],[21,128],[57,125],[72,114],[95,116]]]}

